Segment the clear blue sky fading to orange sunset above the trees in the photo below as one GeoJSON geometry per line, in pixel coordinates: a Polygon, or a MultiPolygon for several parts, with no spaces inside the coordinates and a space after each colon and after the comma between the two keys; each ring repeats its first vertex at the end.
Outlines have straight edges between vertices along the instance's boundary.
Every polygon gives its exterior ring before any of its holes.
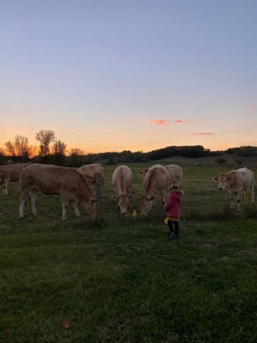
{"type": "Polygon", "coordinates": [[[257,145],[256,0],[0,0],[0,147],[257,145]]]}

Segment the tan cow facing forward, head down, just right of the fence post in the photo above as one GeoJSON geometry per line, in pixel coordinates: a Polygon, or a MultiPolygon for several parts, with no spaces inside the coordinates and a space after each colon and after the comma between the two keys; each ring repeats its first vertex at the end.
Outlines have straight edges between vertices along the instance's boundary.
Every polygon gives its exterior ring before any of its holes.
{"type": "Polygon", "coordinates": [[[121,214],[126,214],[132,199],[132,171],[126,165],[119,165],[112,174],[112,185],[116,194],[112,198],[117,202],[121,214]]]}

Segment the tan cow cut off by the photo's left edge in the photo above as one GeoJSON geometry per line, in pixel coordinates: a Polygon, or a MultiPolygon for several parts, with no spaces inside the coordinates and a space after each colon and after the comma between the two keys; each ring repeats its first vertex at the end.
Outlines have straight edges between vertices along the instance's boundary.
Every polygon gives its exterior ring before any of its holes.
{"type": "Polygon", "coordinates": [[[8,196],[8,185],[10,181],[18,181],[23,168],[29,163],[16,163],[13,165],[0,165],[1,180],[0,185],[3,187],[3,194],[8,196]]]}

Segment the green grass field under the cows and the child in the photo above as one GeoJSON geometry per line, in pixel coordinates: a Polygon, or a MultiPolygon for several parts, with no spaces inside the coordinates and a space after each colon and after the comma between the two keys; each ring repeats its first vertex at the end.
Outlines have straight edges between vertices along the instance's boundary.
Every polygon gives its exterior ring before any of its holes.
{"type": "MultiPolygon", "coordinates": [[[[134,196],[146,166],[131,165],[134,196]]],[[[57,196],[19,220],[18,185],[0,196],[0,341],[257,342],[257,205],[230,210],[211,181],[230,168],[182,165],[180,239],[169,241],[160,203],[146,220],[117,215],[114,167],[101,226],[72,207],[63,222],[57,196]]]]}

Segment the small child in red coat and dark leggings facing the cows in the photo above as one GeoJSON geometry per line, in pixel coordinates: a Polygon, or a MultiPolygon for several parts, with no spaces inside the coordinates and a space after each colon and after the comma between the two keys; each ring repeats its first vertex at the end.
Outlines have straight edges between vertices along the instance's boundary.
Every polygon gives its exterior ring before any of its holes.
{"type": "Polygon", "coordinates": [[[165,211],[167,212],[167,225],[171,231],[170,239],[178,238],[178,222],[180,221],[181,206],[182,206],[182,187],[172,186],[169,192],[168,201],[165,205],[165,211]],[[174,228],[175,226],[175,233],[174,228]]]}

